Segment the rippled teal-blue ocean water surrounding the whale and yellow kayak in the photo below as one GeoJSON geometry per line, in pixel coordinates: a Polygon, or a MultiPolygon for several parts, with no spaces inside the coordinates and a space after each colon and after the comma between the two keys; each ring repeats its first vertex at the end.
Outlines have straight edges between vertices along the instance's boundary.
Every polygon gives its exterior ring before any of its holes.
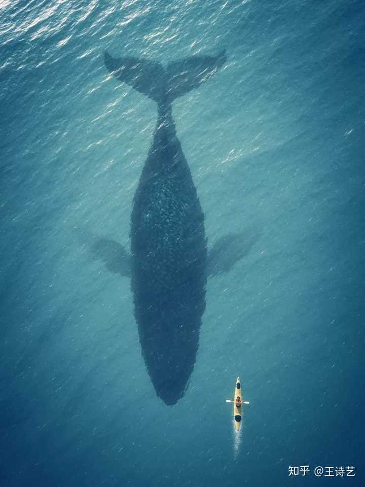
{"type": "Polygon", "coordinates": [[[363,485],[365,4],[0,0],[0,45],[0,484],[363,485]],[[95,236],[129,248],[157,120],[105,49],[228,55],[173,103],[208,246],[239,234],[243,255],[208,280],[172,407],[128,277],[92,252],[95,236]]]}

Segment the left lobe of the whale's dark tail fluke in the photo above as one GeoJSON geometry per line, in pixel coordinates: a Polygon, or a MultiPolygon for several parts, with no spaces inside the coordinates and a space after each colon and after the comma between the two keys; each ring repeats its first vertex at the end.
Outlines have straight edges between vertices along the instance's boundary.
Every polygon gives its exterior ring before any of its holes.
{"type": "Polygon", "coordinates": [[[138,57],[113,57],[107,51],[104,52],[104,62],[118,80],[157,102],[161,100],[165,71],[160,62],[138,57]]]}

